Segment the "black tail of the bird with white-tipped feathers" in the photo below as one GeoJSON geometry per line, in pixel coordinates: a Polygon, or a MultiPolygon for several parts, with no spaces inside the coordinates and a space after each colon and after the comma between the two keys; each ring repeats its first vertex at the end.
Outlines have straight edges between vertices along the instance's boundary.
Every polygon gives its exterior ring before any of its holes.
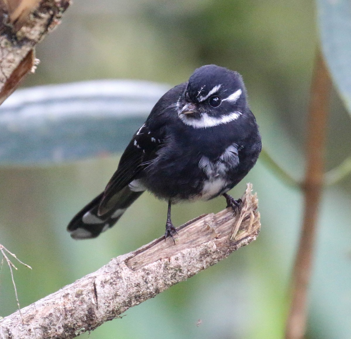
{"type": "Polygon", "coordinates": [[[99,215],[98,209],[104,195],[104,192],[102,192],[74,216],[68,224],[68,232],[71,233],[73,239],[97,237],[101,232],[105,232],[112,227],[142,193],[142,191],[131,191],[128,186],[124,187],[114,196],[115,204],[113,208],[105,214],[99,215]]]}

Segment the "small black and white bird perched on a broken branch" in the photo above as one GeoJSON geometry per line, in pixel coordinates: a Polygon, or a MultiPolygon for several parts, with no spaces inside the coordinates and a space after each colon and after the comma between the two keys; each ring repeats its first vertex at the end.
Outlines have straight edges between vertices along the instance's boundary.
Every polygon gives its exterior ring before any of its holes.
{"type": "Polygon", "coordinates": [[[67,230],[74,239],[97,237],[112,227],[145,191],[168,201],[166,234],[174,241],[171,205],[226,194],[256,163],[261,137],[240,74],[206,65],[155,104],[134,134],[105,190],[67,230]]]}

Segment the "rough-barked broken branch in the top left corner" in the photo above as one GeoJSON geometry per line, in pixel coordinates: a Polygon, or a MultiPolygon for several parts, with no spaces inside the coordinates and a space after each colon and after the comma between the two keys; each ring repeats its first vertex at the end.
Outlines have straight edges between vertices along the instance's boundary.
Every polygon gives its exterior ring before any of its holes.
{"type": "Polygon", "coordinates": [[[0,104],[38,60],[34,46],[59,23],[70,0],[0,0],[0,104]]]}

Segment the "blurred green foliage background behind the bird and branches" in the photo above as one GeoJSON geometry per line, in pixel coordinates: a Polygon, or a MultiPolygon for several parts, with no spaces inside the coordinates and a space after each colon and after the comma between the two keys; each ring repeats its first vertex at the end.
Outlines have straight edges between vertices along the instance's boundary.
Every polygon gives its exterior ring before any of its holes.
{"type": "MultiPolygon", "coordinates": [[[[107,78],[170,88],[204,64],[237,70],[265,150],[299,179],[317,27],[313,1],[75,0],[60,27],[38,45],[41,63],[23,86],[107,78]]],[[[327,132],[326,168],[332,169],[351,149],[350,116],[336,90],[327,132]]],[[[119,156],[0,167],[0,242],[33,267],[15,272],[22,307],[163,234],[167,204],[147,193],[97,239],[74,241],[66,232],[72,216],[104,189],[119,156]]],[[[257,241],[81,337],[282,338],[302,195],[280,181],[263,159],[231,194],[241,196],[246,182],[253,183],[259,197],[257,241]]],[[[307,338],[350,338],[350,203],[349,178],[325,189],[307,338]]],[[[223,198],[179,204],[172,221],[179,225],[224,207],[223,198]]],[[[4,266],[0,315],[16,309],[4,266]]]]}

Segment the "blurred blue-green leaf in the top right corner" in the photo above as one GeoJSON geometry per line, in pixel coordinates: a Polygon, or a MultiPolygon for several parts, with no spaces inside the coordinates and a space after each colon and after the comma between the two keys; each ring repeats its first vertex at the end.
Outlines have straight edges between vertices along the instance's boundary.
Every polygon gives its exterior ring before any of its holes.
{"type": "Polygon", "coordinates": [[[322,50],[348,111],[351,113],[351,7],[349,0],[318,0],[322,50]]]}

